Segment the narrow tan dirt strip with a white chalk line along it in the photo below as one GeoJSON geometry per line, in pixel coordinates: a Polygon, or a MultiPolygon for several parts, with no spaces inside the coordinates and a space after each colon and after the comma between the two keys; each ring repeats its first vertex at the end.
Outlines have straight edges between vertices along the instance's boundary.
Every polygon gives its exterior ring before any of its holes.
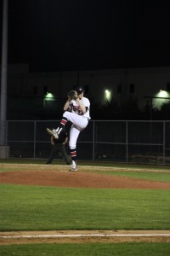
{"type": "Polygon", "coordinates": [[[170,230],[60,230],[0,232],[0,245],[21,243],[170,242],[170,230]]]}

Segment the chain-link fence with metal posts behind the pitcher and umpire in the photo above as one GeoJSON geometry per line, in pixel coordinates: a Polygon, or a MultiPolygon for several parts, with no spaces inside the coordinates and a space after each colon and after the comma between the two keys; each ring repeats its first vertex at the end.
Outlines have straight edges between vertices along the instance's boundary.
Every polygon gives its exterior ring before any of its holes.
{"type": "MultiPolygon", "coordinates": [[[[48,158],[46,128],[56,120],[8,120],[9,157],[48,158]]],[[[2,125],[2,124],[1,124],[2,125]]],[[[69,132],[70,125],[67,125],[69,132]]],[[[68,154],[69,148],[67,146],[68,154]]],[[[56,159],[61,155],[56,155],[56,159]]],[[[170,164],[170,121],[90,120],[77,141],[79,160],[170,164]]]]}

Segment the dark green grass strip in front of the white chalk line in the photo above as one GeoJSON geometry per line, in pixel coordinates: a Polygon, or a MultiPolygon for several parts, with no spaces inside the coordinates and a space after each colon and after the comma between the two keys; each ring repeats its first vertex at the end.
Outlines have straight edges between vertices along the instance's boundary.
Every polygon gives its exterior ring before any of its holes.
{"type": "Polygon", "coordinates": [[[23,244],[1,246],[2,256],[169,256],[168,243],[23,244]]]}

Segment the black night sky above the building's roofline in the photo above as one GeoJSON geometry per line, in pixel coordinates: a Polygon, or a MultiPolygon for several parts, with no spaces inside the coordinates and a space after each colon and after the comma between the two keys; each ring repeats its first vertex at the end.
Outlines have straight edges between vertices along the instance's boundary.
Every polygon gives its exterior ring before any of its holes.
{"type": "Polygon", "coordinates": [[[32,72],[170,66],[164,2],[8,0],[8,63],[32,72]]]}

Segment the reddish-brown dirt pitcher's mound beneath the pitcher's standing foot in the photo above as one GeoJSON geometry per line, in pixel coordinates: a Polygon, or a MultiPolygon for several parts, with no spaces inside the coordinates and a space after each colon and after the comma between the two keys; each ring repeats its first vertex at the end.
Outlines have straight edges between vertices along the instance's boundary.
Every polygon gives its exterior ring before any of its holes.
{"type": "MultiPolygon", "coordinates": [[[[0,183],[42,185],[65,188],[101,189],[170,189],[170,183],[141,180],[133,177],[119,177],[90,172],[97,168],[113,171],[112,167],[79,166],[78,172],[68,172],[69,166],[44,165],[0,165],[2,168],[19,171],[1,172],[0,183]],[[20,171],[25,172],[20,172],[20,171]]],[[[117,168],[116,168],[117,170],[117,168]]],[[[127,169],[126,169],[127,170],[127,169]]],[[[123,168],[119,172],[125,171],[123,168]]],[[[131,170],[132,171],[132,170],[131,170]]],[[[136,170],[137,171],[137,170],[136,170]]],[[[135,172],[135,169],[133,169],[135,172]]]]}

